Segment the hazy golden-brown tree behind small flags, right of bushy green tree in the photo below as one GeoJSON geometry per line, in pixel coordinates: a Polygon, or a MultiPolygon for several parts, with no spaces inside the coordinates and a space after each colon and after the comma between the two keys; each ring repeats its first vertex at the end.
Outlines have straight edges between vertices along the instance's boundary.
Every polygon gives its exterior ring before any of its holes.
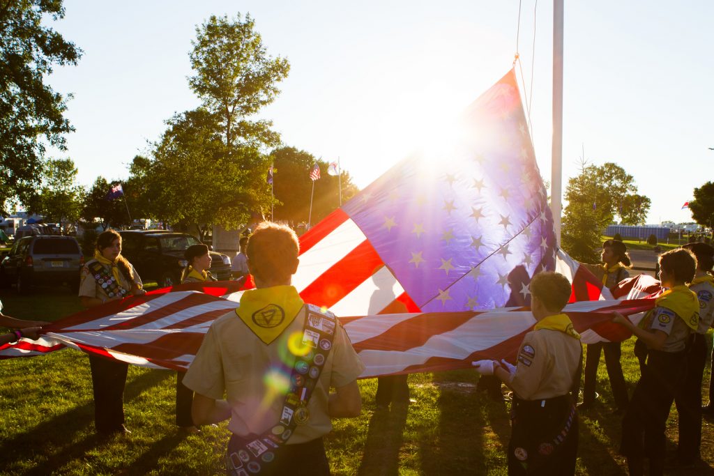
{"type": "MultiPolygon", "coordinates": [[[[327,174],[328,163],[316,159],[311,153],[294,147],[278,148],[270,154],[271,163],[277,172],[273,177],[276,198],[274,219],[299,223],[308,221],[310,195],[313,181],[310,171],[318,163],[321,178],[315,182],[312,223],[317,223],[339,206],[338,178],[327,174]]],[[[341,172],[343,203],[352,198],[358,188],[352,183],[349,173],[341,172]]],[[[269,187],[269,186],[268,186],[269,187]]]]}

